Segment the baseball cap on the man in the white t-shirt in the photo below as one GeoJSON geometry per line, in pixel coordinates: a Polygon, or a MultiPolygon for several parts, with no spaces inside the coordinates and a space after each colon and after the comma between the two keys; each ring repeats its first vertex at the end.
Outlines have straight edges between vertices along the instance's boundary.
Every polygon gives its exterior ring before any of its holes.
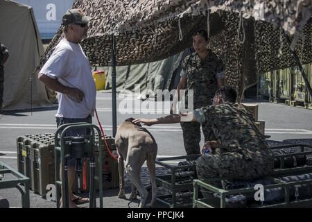
{"type": "Polygon", "coordinates": [[[70,10],[67,10],[65,15],[62,17],[62,24],[64,26],[68,24],[87,24],[92,17],[86,16],[85,13],[83,13],[82,10],[73,8],[70,10]]]}

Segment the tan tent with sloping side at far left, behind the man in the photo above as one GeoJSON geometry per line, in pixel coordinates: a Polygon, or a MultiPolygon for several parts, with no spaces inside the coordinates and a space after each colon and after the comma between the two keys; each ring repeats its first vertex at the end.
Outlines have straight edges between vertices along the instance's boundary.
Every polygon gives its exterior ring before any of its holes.
{"type": "Polygon", "coordinates": [[[0,42],[6,45],[10,57],[5,65],[3,110],[50,106],[44,84],[31,74],[37,66],[44,49],[29,6],[14,1],[0,0],[0,42]]]}

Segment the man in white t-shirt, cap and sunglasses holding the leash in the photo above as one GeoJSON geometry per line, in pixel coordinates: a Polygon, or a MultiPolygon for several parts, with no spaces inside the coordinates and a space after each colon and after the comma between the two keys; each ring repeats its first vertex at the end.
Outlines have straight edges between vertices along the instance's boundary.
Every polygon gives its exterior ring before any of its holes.
{"type": "MultiPolygon", "coordinates": [[[[96,86],[89,60],[80,46],[81,40],[87,36],[88,22],[91,19],[79,9],[65,13],[62,17],[65,37],[55,47],[38,76],[47,87],[58,92],[59,106],[55,114],[57,126],[64,123],[92,123],[96,107],[96,86]]],[[[85,130],[72,130],[67,136],[85,134],[85,130]]],[[[71,194],[69,207],[77,207],[73,200],[82,200],[71,191],[75,164],[76,160],[73,158],[68,162],[68,187],[71,194]]]]}

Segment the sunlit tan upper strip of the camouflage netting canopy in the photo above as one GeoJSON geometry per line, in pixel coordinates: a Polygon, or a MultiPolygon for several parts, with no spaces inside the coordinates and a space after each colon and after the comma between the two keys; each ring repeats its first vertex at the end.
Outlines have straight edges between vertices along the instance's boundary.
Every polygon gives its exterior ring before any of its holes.
{"type": "Polygon", "coordinates": [[[102,22],[102,33],[107,35],[140,31],[177,18],[206,15],[208,8],[211,13],[223,10],[241,13],[245,19],[254,17],[275,28],[281,26],[291,35],[301,31],[311,17],[310,0],[77,0],[73,6],[83,6],[89,15],[96,15],[96,20],[102,22]],[[103,17],[98,17],[100,14],[103,17]]]}

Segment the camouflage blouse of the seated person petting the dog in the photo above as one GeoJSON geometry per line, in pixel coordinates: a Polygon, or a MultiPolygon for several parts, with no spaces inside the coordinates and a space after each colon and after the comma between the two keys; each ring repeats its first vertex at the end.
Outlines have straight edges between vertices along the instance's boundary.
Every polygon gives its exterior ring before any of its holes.
{"type": "Polygon", "coordinates": [[[211,124],[221,152],[230,152],[244,160],[273,163],[273,153],[243,105],[223,103],[208,105],[194,111],[199,122],[211,124]]]}

